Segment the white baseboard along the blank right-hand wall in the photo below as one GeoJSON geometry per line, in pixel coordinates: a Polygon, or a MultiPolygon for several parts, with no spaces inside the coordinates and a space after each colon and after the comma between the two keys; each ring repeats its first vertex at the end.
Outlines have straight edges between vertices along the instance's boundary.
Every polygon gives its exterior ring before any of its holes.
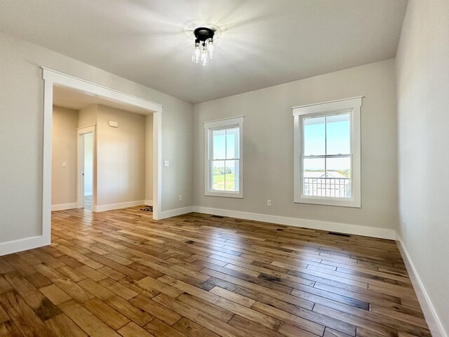
{"type": "Polygon", "coordinates": [[[399,235],[396,244],[398,246],[399,251],[401,252],[401,256],[404,260],[404,263],[406,263],[408,275],[410,275],[413,288],[415,289],[417,298],[420,301],[422,312],[424,312],[424,317],[426,317],[426,321],[427,324],[429,325],[429,329],[432,333],[432,336],[448,337],[448,333],[444,331],[441,319],[438,317],[434,305],[432,305],[431,303],[429,295],[427,294],[427,291],[424,288],[424,284],[422,284],[420,275],[418,274],[415,265],[413,264],[413,260],[410,258],[406,246],[403,244],[403,241],[399,235]]]}

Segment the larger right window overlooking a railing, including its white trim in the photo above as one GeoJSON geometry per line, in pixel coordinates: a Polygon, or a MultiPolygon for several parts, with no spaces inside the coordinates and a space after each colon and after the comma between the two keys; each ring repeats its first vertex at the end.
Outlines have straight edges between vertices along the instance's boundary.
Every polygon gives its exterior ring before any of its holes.
{"type": "Polygon", "coordinates": [[[358,97],[293,107],[295,202],[361,207],[361,105],[358,97]]]}

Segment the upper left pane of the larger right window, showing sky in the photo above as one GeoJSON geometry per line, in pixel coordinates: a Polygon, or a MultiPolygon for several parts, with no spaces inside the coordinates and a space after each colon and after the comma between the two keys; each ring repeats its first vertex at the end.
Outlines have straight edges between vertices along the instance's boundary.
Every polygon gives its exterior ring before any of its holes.
{"type": "Polygon", "coordinates": [[[304,156],[326,154],[325,117],[309,117],[302,120],[304,128],[304,156]]]}

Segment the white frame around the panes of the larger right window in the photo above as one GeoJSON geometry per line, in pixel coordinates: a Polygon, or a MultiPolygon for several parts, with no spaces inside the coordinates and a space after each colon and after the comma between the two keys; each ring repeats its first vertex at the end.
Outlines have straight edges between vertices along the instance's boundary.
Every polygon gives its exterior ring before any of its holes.
{"type": "Polygon", "coordinates": [[[294,123],[294,202],[329,206],[361,207],[361,106],[362,98],[346,98],[325,103],[292,107],[294,123]],[[351,198],[303,194],[302,121],[304,117],[348,113],[351,121],[351,198]]]}

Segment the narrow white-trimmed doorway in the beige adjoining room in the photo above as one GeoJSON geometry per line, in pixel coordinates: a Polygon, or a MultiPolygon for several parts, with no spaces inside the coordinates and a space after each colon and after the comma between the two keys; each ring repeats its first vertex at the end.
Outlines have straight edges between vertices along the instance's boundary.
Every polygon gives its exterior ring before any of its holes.
{"type": "Polygon", "coordinates": [[[78,135],[78,172],[77,172],[77,203],[79,209],[92,211],[95,190],[95,126],[77,129],[78,135]]]}

